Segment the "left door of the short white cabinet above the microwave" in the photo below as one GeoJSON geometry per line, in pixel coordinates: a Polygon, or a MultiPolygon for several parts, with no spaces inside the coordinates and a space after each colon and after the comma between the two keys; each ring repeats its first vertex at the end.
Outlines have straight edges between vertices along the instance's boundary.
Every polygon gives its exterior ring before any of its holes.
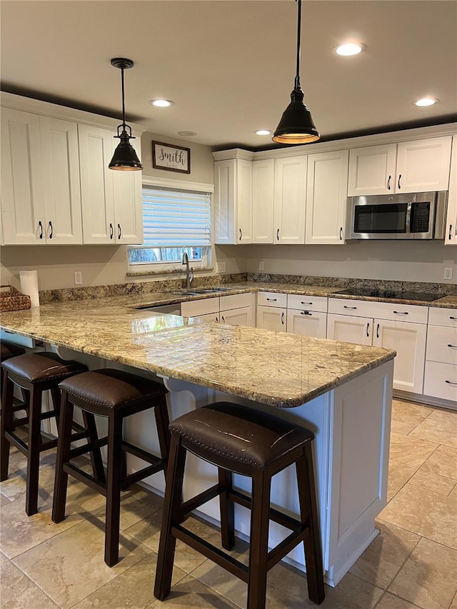
{"type": "Polygon", "coordinates": [[[348,196],[395,192],[396,144],[349,151],[348,196]]]}

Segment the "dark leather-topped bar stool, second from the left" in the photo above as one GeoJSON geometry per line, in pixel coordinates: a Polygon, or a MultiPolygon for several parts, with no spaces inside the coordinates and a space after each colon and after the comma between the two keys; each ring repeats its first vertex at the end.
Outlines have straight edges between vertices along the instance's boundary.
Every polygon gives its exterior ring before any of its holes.
{"type": "MultiPolygon", "coordinates": [[[[41,421],[55,418],[59,423],[60,391],[59,383],[64,378],[87,370],[87,366],[77,361],[66,361],[56,353],[26,353],[11,357],[1,363],[4,372],[2,412],[1,412],[1,449],[0,449],[0,480],[8,478],[9,448],[14,444],[27,457],[26,480],[26,513],[31,516],[38,511],[39,464],[40,453],[49,451],[57,446],[57,438],[41,432],[41,421]],[[20,419],[14,418],[14,385],[28,392],[28,411],[20,419]],[[42,397],[44,391],[51,392],[54,408],[42,412],[42,397]],[[16,428],[28,425],[28,440],[20,438],[16,428]]],[[[27,404],[25,405],[27,406],[27,404]]],[[[24,405],[23,405],[24,408],[24,405]]],[[[87,438],[93,433],[91,421],[86,421],[86,427],[74,423],[76,435],[73,438],[87,438]]]]}

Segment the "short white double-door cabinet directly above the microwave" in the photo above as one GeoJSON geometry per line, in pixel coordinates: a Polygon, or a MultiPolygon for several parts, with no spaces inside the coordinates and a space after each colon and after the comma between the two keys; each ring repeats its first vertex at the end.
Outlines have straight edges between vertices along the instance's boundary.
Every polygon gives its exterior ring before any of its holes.
{"type": "Polygon", "coordinates": [[[451,136],[352,149],[348,196],[446,191],[450,160],[451,136]]]}

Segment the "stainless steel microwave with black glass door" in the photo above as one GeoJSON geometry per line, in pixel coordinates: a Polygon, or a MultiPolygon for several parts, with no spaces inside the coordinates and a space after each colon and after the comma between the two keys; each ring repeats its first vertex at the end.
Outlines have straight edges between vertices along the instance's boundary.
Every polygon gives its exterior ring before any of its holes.
{"type": "Polygon", "coordinates": [[[348,198],[348,239],[443,239],[448,193],[348,198]]]}

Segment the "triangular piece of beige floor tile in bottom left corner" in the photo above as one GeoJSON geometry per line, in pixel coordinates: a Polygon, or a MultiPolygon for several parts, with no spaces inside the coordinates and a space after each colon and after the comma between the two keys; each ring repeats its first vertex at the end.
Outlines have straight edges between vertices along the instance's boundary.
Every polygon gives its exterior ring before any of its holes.
{"type": "Polygon", "coordinates": [[[2,609],[57,609],[43,590],[40,590],[11,560],[0,553],[0,604],[2,609]]]}

